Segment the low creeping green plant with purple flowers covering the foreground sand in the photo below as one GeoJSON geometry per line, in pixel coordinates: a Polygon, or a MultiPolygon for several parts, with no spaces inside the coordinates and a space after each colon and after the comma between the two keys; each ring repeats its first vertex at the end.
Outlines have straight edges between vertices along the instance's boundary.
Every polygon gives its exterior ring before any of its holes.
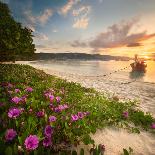
{"type": "Polygon", "coordinates": [[[28,65],[0,64],[0,154],[65,153],[94,144],[90,134],[107,126],[154,132],[151,114],[135,107],[28,65]]]}

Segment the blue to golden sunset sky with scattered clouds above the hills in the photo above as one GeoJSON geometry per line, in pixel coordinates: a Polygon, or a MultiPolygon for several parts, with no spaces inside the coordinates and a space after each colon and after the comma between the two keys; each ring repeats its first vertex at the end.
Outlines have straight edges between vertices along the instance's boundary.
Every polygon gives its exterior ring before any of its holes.
{"type": "Polygon", "coordinates": [[[36,52],[155,55],[155,0],[1,0],[36,52]]]}

